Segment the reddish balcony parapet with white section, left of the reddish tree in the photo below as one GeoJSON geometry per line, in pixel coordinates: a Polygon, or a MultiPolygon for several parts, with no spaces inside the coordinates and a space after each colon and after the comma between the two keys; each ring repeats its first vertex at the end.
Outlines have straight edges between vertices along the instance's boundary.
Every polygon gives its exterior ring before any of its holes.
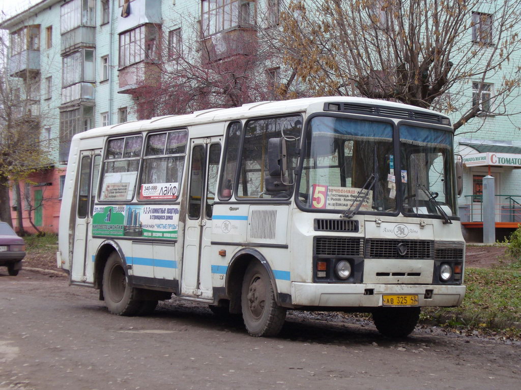
{"type": "Polygon", "coordinates": [[[157,87],[161,81],[161,67],[150,61],[141,61],[118,72],[120,94],[133,94],[142,87],[157,87]]]}

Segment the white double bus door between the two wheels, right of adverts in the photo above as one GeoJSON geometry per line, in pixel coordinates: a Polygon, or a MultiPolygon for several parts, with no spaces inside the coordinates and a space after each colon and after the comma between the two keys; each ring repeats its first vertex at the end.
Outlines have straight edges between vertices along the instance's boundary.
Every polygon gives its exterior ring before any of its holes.
{"type": "Polygon", "coordinates": [[[181,294],[213,299],[212,212],[217,192],[221,137],[192,139],[181,294]]]}

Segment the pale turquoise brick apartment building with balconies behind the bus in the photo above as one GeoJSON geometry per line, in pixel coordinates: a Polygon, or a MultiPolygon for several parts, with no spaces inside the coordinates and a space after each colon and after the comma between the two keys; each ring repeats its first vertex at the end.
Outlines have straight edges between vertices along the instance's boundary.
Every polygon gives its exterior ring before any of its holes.
{"type": "MultiPolygon", "coordinates": [[[[39,137],[53,145],[53,164],[21,188],[24,227],[31,230],[30,215],[42,230],[57,231],[73,135],[138,119],[141,92],[159,88],[164,64],[175,66],[169,61],[176,53],[192,50],[203,61],[218,60],[230,50],[246,53],[255,34],[249,26],[261,16],[263,25],[276,25],[279,12],[279,0],[42,0],[4,20],[0,28],[10,37],[9,75],[31,85],[32,96],[26,98],[39,137]],[[240,39],[231,44],[224,36],[240,39]]],[[[472,12],[469,40],[475,44],[486,44],[494,33],[493,15],[487,15],[482,9],[472,12]]],[[[510,66],[519,66],[519,57],[510,66]]],[[[275,85],[284,77],[282,64],[272,63],[265,74],[266,83],[275,85]]],[[[521,222],[521,118],[494,116],[488,101],[501,83],[501,72],[485,87],[481,80],[468,81],[468,104],[479,105],[481,114],[455,137],[465,164],[460,214],[467,237],[476,241],[482,228],[482,178],[489,173],[496,179],[497,228],[512,230],[521,222]]],[[[508,110],[520,112],[520,103],[512,100],[508,110]]]]}

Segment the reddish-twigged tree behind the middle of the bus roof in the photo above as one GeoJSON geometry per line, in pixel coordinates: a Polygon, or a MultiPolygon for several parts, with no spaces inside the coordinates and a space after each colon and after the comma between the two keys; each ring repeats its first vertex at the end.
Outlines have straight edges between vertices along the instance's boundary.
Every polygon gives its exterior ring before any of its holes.
{"type": "Polygon", "coordinates": [[[157,34],[162,36],[157,66],[148,68],[156,75],[132,92],[138,118],[301,96],[294,75],[280,69],[279,47],[262,18],[206,34],[193,15],[179,17],[182,32],[157,34]]]}

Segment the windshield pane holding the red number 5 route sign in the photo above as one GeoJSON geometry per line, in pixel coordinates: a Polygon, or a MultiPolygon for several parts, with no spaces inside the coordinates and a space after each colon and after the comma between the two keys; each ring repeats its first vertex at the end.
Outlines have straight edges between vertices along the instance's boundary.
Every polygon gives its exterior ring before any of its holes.
{"type": "Polygon", "coordinates": [[[390,123],[316,116],[306,135],[300,202],[311,209],[394,213],[393,154],[390,123]]]}

